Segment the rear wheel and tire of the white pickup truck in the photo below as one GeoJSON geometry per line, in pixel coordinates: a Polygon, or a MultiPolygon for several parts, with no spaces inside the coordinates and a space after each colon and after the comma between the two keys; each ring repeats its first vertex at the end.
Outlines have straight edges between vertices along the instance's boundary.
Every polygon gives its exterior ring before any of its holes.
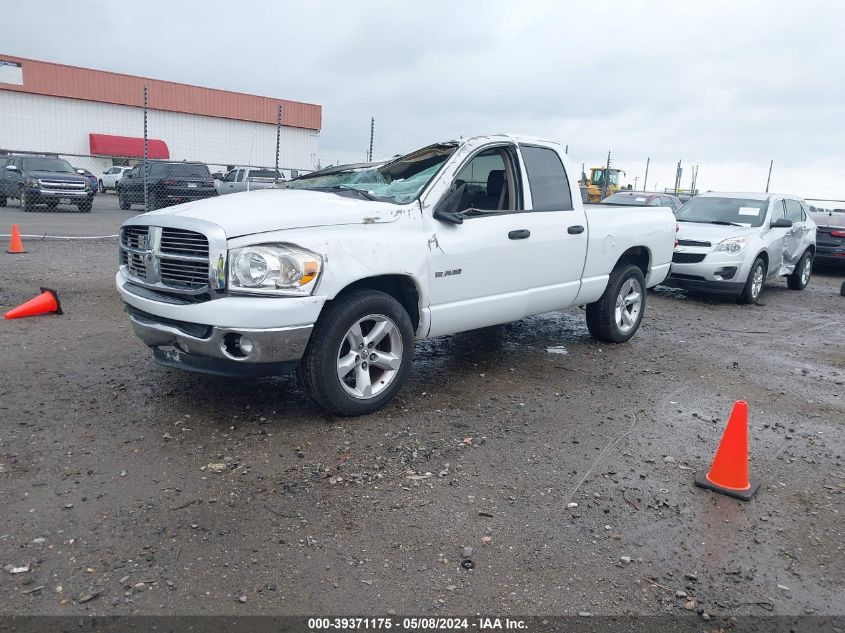
{"type": "Polygon", "coordinates": [[[632,264],[617,264],[604,294],[587,305],[587,329],[600,341],[624,343],[637,333],[645,307],[643,271],[632,264]]]}

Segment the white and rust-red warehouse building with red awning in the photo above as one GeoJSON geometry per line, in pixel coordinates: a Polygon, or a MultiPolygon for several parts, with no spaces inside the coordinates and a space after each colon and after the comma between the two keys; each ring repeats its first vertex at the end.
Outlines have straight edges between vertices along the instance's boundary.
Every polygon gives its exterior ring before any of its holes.
{"type": "Polygon", "coordinates": [[[95,174],[150,158],[308,171],[321,107],[0,53],[0,153],[55,154],[95,174]]]}

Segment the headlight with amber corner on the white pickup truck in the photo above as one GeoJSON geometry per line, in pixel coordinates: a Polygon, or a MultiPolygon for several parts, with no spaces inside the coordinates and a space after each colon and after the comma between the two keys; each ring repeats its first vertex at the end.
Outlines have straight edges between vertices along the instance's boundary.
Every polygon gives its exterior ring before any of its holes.
{"type": "Polygon", "coordinates": [[[229,290],[246,294],[305,296],[323,267],[316,253],[289,244],[256,244],[229,251],[229,290]]]}

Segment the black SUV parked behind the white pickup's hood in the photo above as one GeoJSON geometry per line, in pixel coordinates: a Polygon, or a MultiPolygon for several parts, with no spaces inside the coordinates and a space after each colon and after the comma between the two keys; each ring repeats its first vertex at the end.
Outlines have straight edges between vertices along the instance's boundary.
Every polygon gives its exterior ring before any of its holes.
{"type": "MultiPolygon", "coordinates": [[[[144,203],[143,165],[130,169],[117,184],[120,208],[144,203]]],[[[202,200],[217,195],[208,166],[202,163],[148,161],[147,202],[155,210],[171,204],[202,200]]]]}

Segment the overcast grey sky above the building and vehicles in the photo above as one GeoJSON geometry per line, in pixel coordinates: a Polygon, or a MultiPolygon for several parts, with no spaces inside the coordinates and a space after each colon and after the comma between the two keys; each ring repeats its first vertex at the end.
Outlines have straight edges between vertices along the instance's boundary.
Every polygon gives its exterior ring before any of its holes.
{"type": "Polygon", "coordinates": [[[0,52],[323,106],[322,163],[517,132],[626,182],[845,199],[845,3],[7,4],[0,52]]]}

